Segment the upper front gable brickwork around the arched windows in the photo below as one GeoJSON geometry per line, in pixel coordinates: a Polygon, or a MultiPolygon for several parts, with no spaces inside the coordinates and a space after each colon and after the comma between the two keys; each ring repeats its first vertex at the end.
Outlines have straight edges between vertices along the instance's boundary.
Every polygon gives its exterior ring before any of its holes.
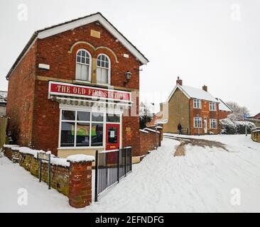
{"type": "Polygon", "coordinates": [[[49,64],[50,70],[44,71],[36,69],[36,74],[60,79],[75,79],[76,53],[80,48],[88,50],[94,58],[97,58],[97,55],[101,52],[109,55],[112,65],[112,86],[139,89],[139,71],[134,69],[139,69],[140,64],[136,60],[136,57],[134,57],[129,50],[124,48],[121,43],[117,42],[116,38],[114,38],[103,26],[97,25],[96,23],[90,23],[86,26],[38,40],[36,63],[37,65],[38,63],[49,64]],[[90,36],[90,31],[92,29],[100,31],[100,38],[90,36]],[[75,48],[73,48],[72,53],[68,52],[72,45],[79,41],[90,43],[95,48],[105,46],[112,49],[117,55],[119,62],[116,62],[114,55],[109,50],[102,48],[95,51],[90,45],[86,44],[76,45],[75,48]],[[123,57],[124,53],[128,54],[129,58],[123,57]],[[130,82],[125,85],[125,72],[127,70],[132,74],[130,82]]]}

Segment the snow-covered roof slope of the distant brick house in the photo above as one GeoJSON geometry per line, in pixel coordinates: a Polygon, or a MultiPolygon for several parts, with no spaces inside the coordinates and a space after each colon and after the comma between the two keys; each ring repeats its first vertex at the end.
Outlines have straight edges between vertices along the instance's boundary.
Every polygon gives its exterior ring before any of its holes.
{"type": "Polygon", "coordinates": [[[209,92],[205,92],[202,89],[198,89],[195,87],[189,87],[189,86],[185,86],[185,85],[182,85],[182,86],[178,85],[178,86],[181,87],[181,89],[183,89],[183,91],[186,94],[188,94],[188,96],[190,96],[191,98],[218,102],[215,99],[215,97],[212,96],[212,94],[210,94],[209,92]]]}

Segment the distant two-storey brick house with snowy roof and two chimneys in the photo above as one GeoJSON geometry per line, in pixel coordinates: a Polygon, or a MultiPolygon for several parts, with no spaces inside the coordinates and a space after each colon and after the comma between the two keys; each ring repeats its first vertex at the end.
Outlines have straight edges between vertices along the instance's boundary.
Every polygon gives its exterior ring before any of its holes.
{"type": "Polygon", "coordinates": [[[163,132],[178,133],[178,123],[183,133],[191,135],[220,133],[219,120],[225,118],[231,109],[221,99],[215,99],[207,92],[207,86],[202,89],[183,85],[183,80],[176,81],[168,100],[161,104],[158,118],[167,119],[163,132]],[[220,111],[220,108],[222,111],[220,111]]]}

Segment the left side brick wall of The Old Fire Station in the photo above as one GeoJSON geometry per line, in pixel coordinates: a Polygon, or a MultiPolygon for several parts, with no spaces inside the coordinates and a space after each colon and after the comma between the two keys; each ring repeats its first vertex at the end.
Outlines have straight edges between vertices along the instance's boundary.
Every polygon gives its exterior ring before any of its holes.
{"type": "Polygon", "coordinates": [[[33,96],[37,43],[27,52],[9,78],[6,116],[14,143],[30,145],[33,124],[33,96]]]}

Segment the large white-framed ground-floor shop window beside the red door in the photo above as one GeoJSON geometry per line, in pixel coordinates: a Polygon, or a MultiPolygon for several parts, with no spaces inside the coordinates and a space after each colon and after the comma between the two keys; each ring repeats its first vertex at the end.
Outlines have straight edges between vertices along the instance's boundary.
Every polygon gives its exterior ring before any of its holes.
{"type": "Polygon", "coordinates": [[[60,147],[102,147],[104,114],[61,110],[60,147]]]}

